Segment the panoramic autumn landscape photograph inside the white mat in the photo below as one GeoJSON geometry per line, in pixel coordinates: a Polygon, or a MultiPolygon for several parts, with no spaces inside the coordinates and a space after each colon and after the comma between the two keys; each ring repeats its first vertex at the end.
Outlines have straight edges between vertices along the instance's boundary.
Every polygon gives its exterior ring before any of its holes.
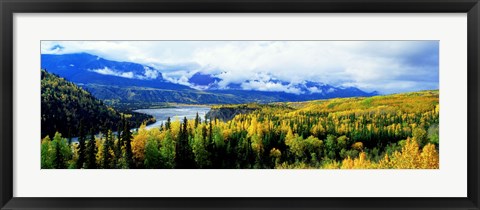
{"type": "Polygon", "coordinates": [[[439,169],[438,41],[42,41],[41,169],[439,169]]]}

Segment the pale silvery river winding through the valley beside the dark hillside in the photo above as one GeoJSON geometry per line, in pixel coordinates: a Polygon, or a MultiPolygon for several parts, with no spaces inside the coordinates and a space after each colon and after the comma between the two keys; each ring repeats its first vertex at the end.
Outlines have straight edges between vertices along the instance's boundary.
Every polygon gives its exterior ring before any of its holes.
{"type": "Polygon", "coordinates": [[[210,107],[208,106],[176,106],[172,108],[161,108],[161,109],[137,109],[134,112],[149,114],[157,119],[157,122],[147,125],[147,129],[151,129],[154,127],[160,127],[163,123],[167,122],[167,118],[170,117],[171,121],[180,120],[182,121],[184,117],[187,119],[192,120],[195,119],[195,116],[198,115],[204,120],[205,114],[210,111],[210,107]]]}

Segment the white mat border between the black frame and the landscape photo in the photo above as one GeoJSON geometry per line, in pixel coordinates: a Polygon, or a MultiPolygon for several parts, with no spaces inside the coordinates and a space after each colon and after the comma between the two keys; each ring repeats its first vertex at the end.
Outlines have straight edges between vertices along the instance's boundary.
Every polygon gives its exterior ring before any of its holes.
{"type": "Polygon", "coordinates": [[[15,197],[466,197],[466,14],[14,15],[15,197]],[[40,40],[440,40],[438,170],[40,170],[40,40]]]}

